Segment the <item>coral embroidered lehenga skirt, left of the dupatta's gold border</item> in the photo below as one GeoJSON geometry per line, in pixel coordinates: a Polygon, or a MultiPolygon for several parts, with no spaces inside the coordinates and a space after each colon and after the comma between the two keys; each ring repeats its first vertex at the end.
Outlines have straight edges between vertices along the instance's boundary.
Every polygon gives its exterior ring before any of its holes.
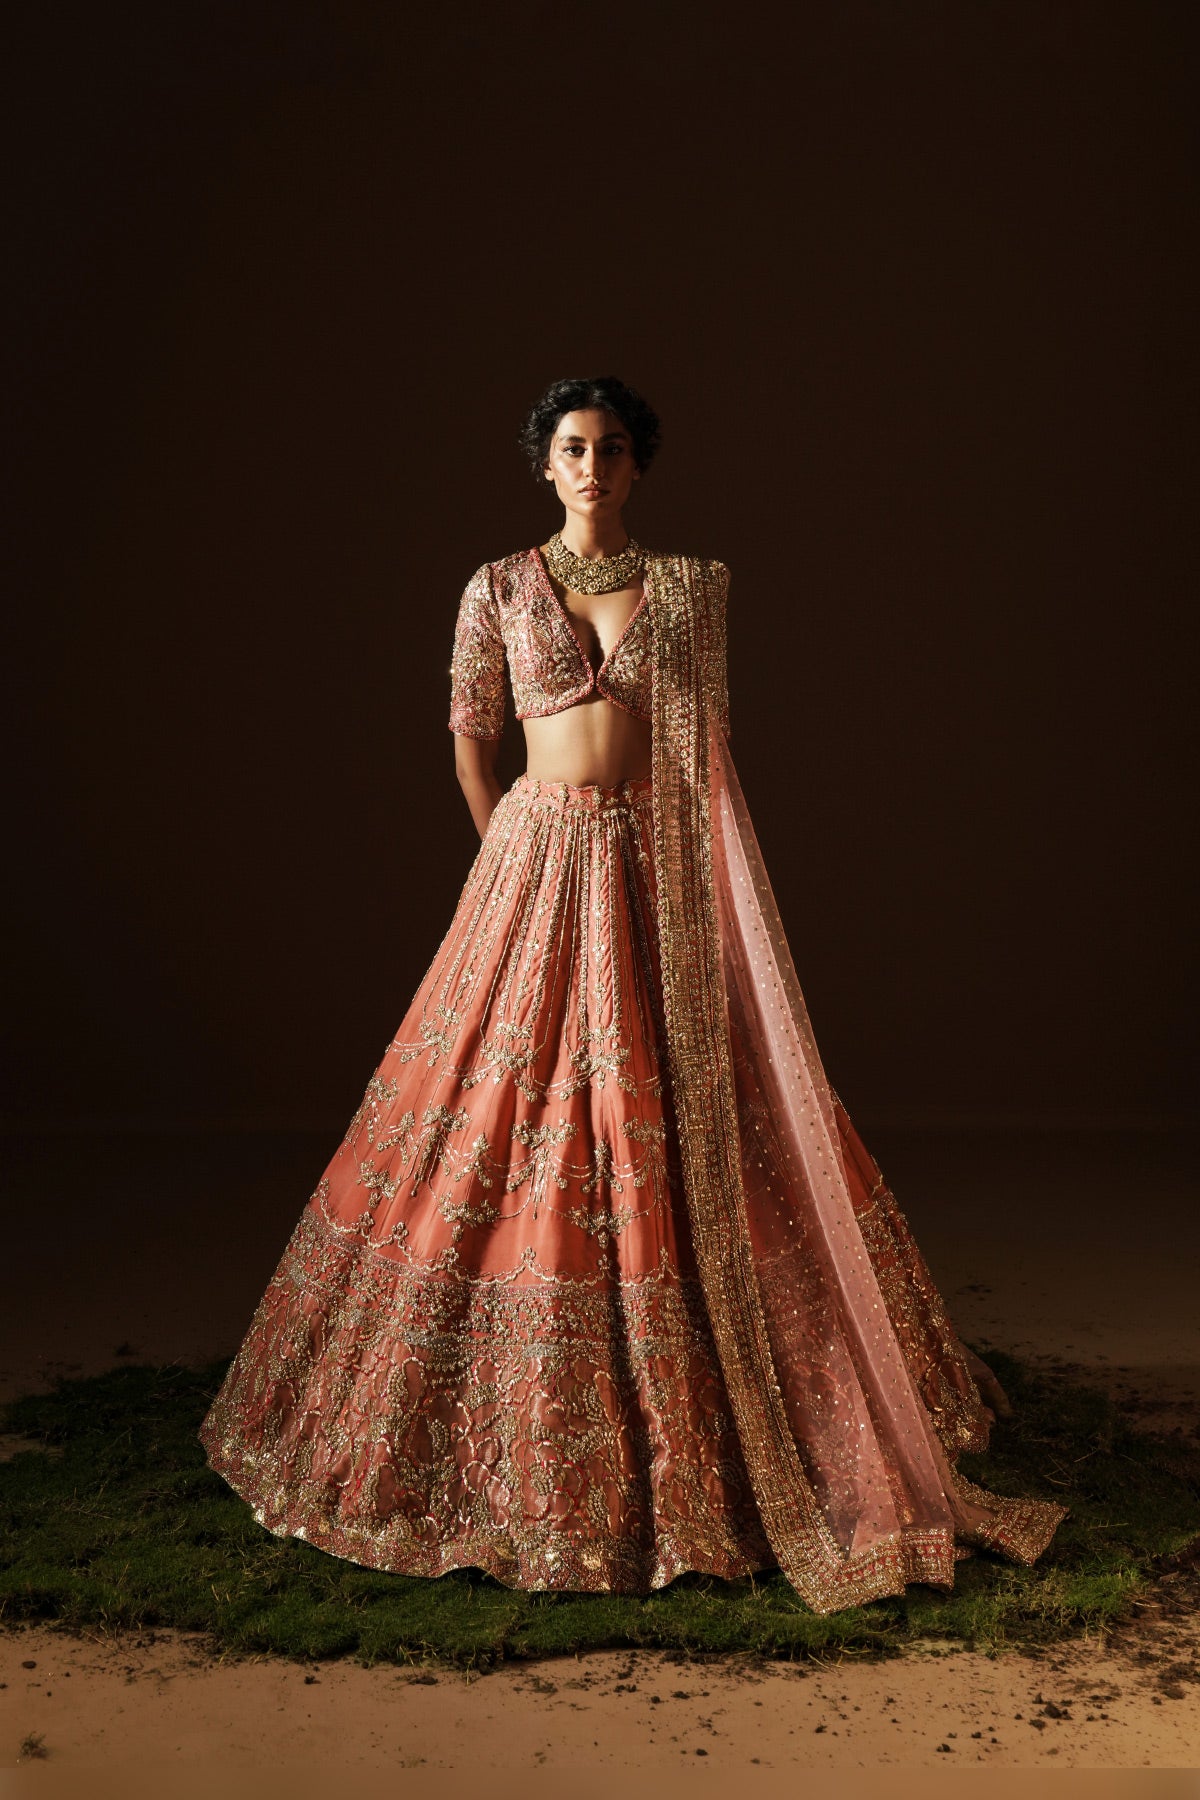
{"type": "Polygon", "coordinates": [[[201,1440],[272,1532],[646,1593],[772,1568],[698,1282],[653,781],[522,776],[201,1440]]]}

